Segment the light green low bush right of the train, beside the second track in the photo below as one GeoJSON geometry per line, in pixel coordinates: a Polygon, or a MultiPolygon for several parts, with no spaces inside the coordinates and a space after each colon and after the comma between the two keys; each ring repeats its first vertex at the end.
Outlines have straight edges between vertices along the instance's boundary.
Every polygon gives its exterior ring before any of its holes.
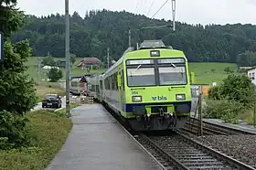
{"type": "Polygon", "coordinates": [[[238,115],[244,110],[244,106],[239,101],[230,100],[207,100],[204,108],[204,116],[216,118],[224,122],[238,123],[238,115]]]}

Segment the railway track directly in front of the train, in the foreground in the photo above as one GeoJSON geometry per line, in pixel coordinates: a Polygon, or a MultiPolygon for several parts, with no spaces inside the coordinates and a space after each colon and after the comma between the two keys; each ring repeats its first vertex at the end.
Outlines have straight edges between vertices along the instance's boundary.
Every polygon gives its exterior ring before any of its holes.
{"type": "Polygon", "coordinates": [[[172,136],[147,136],[139,133],[136,139],[165,169],[254,169],[180,132],[172,136]]]}

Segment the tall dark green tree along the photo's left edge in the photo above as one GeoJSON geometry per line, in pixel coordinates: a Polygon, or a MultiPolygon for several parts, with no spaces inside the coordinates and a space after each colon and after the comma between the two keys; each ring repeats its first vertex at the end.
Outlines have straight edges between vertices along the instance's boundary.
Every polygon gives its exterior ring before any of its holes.
{"type": "Polygon", "coordinates": [[[0,30],[5,34],[5,58],[0,63],[0,149],[26,146],[29,142],[24,113],[37,104],[35,82],[30,80],[24,63],[32,54],[27,40],[10,42],[11,33],[26,23],[16,9],[16,0],[0,0],[0,30]]]}

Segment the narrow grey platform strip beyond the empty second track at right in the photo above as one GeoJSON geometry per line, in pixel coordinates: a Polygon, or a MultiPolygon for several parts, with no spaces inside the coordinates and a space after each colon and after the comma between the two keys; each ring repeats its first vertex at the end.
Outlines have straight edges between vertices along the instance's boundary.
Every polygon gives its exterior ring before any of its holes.
{"type": "MultiPolygon", "coordinates": [[[[194,112],[191,112],[190,116],[194,117],[194,114],[195,114],[194,112]]],[[[239,124],[231,124],[231,123],[228,123],[228,122],[223,122],[219,119],[203,119],[203,121],[211,122],[211,123],[215,123],[217,125],[226,126],[228,128],[243,130],[243,131],[247,131],[247,132],[251,132],[251,133],[256,134],[256,128],[254,128],[253,125],[247,124],[246,122],[241,122],[240,121],[239,124]]]]}

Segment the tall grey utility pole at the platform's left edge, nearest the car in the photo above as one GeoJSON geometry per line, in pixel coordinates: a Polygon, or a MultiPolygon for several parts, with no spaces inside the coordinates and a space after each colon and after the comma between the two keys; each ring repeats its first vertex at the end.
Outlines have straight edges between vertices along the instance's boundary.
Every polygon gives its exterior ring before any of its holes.
{"type": "Polygon", "coordinates": [[[69,111],[69,0],[65,0],[65,16],[66,16],[66,115],[70,117],[69,111]]]}

